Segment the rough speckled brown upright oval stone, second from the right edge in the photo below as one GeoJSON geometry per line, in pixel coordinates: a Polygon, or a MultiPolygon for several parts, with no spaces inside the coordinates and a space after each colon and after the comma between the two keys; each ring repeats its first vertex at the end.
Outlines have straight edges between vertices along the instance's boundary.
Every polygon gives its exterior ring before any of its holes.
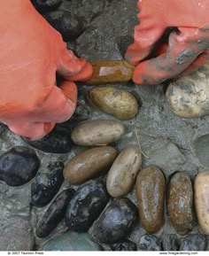
{"type": "Polygon", "coordinates": [[[193,190],[190,177],[178,172],[171,177],[167,188],[167,215],[172,226],[180,235],[193,227],[193,190]]]}

